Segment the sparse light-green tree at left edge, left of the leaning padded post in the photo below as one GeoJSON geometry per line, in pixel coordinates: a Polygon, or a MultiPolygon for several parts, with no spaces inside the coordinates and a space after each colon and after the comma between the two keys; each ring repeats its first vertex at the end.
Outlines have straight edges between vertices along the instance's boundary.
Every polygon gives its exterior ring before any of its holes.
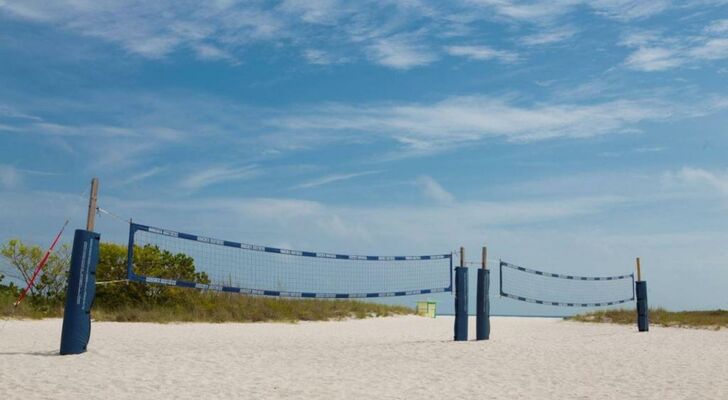
{"type": "MultiPolygon", "coordinates": [[[[45,250],[38,245],[27,245],[19,239],[11,239],[0,247],[0,255],[15,267],[26,284],[30,282],[35,268],[45,250]]],[[[48,257],[43,270],[30,289],[31,297],[44,300],[61,300],[65,295],[71,248],[64,244],[48,257]]]]}

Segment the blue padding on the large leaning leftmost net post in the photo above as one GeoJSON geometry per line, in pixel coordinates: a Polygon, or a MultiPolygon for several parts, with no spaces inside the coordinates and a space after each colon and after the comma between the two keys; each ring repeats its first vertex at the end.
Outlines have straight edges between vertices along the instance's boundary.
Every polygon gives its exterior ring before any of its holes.
{"type": "Polygon", "coordinates": [[[61,355],[85,352],[91,337],[91,306],[96,295],[100,239],[98,233],[83,229],[77,229],[73,238],[61,332],[61,355]]]}

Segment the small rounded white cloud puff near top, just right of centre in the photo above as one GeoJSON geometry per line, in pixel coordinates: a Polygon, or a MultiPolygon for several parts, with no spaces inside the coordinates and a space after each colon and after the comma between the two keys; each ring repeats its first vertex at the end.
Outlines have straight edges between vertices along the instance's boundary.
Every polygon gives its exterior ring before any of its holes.
{"type": "Polygon", "coordinates": [[[437,56],[409,35],[379,39],[369,46],[369,57],[376,63],[395,69],[410,69],[430,64],[437,56]]]}

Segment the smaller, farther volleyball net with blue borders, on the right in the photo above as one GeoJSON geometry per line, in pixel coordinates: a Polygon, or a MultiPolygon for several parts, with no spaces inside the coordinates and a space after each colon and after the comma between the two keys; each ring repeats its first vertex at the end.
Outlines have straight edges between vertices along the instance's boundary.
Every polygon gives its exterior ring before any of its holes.
{"type": "Polygon", "coordinates": [[[554,306],[610,306],[634,300],[634,276],[564,275],[501,262],[500,294],[554,306]]]}

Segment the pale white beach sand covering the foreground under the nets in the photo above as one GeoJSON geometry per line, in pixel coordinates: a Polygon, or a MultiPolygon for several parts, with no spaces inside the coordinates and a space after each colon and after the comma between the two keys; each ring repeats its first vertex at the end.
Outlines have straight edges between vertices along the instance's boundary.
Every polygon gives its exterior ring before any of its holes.
{"type": "Polygon", "coordinates": [[[104,322],[80,356],[60,320],[9,321],[0,399],[728,399],[728,330],[491,321],[467,343],[451,317],[104,322]]]}

